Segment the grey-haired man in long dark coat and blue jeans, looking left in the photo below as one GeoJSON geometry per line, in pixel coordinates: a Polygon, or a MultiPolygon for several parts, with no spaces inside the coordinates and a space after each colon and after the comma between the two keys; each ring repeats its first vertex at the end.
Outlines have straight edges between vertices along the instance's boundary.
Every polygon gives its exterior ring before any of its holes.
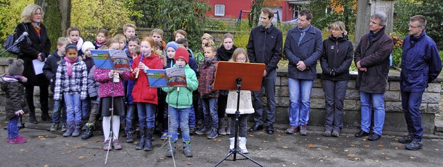
{"type": "Polygon", "coordinates": [[[374,107],[374,128],[368,138],[370,141],[380,139],[385,121],[384,92],[388,85],[389,55],[393,43],[385,33],[386,14],[376,12],[371,16],[370,32],[360,39],[354,52],[354,62],[359,68],[356,89],[360,91],[361,130],[355,137],[368,136],[371,124],[371,104],[374,107]],[[371,100],[371,101],[370,101],[371,100]]]}

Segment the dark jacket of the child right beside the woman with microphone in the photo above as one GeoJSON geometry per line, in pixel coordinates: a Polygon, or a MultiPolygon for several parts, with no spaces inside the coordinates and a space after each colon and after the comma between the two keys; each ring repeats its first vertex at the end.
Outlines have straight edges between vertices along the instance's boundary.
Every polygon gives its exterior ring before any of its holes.
{"type": "Polygon", "coordinates": [[[43,74],[47,80],[51,81],[51,91],[54,92],[55,87],[55,73],[57,73],[57,68],[60,62],[62,62],[62,57],[57,54],[58,50],[55,50],[52,55],[49,55],[43,66],[43,74]]]}

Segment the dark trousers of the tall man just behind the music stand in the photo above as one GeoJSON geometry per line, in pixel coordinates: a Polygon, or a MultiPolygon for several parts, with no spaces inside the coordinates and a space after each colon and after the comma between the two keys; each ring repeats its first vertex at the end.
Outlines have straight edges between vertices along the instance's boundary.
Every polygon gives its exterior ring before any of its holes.
{"type": "MultiPolygon", "coordinates": [[[[262,87],[264,86],[264,92],[266,93],[266,125],[272,125],[275,122],[275,78],[277,77],[277,71],[270,71],[263,77],[262,87]]],[[[255,109],[254,121],[256,124],[263,125],[263,100],[262,90],[253,91],[255,109]]]]}

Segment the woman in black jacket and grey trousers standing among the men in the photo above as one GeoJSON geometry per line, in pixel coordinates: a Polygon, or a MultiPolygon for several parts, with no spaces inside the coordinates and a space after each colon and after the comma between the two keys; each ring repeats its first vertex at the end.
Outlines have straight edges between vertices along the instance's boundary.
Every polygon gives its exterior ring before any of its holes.
{"type": "Polygon", "coordinates": [[[323,136],[339,137],[343,128],[343,100],[347,81],[350,80],[353,48],[342,21],[331,24],[331,29],[332,34],[323,41],[323,55],[320,58],[326,103],[326,131],[323,136]]]}

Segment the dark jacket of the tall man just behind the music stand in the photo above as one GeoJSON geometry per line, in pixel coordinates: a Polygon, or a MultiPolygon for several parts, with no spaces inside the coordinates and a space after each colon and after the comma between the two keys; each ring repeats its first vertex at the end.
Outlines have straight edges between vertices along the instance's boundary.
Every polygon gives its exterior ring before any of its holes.
{"type": "Polygon", "coordinates": [[[282,59],[283,35],[275,26],[269,28],[257,26],[249,35],[248,58],[250,62],[266,64],[266,72],[277,69],[277,64],[282,59]]]}

